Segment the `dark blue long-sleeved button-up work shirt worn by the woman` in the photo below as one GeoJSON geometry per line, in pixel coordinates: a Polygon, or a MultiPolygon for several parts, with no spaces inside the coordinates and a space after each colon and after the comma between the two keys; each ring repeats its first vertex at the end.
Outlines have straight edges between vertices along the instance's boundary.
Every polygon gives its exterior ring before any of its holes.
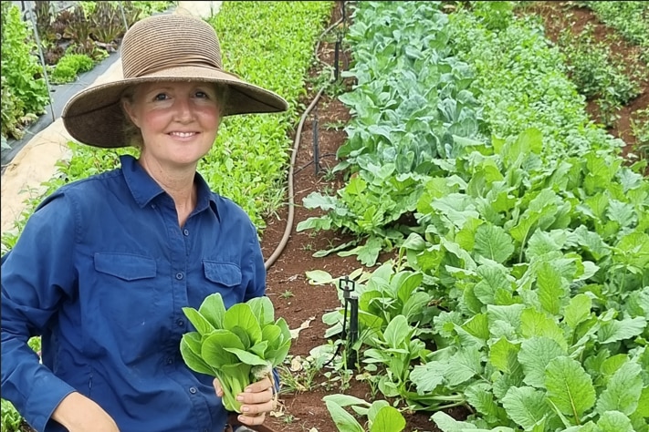
{"type": "Polygon", "coordinates": [[[2,263],[2,397],[39,432],[78,391],[121,432],[223,432],[213,377],[183,362],[184,306],[261,296],[256,229],[196,174],[183,227],[171,196],[131,156],[63,186],[26,223],[2,263]],[[42,335],[42,365],[26,345],[42,335]]]}

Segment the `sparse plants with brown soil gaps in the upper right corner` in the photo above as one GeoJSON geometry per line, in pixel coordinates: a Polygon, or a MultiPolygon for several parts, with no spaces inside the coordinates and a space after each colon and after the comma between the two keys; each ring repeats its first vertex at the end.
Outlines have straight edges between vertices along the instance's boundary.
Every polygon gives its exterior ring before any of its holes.
{"type": "MultiPolygon", "coordinates": [[[[627,159],[649,156],[649,11],[643,2],[521,2],[566,57],[591,118],[622,138],[627,159]]],[[[644,170],[646,176],[649,170],[644,170]]]]}

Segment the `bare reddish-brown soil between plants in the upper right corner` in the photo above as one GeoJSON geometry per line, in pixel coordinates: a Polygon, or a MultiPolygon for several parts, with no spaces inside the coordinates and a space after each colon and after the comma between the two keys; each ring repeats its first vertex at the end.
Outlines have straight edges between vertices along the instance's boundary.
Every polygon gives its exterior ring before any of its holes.
{"type": "MultiPolygon", "coordinates": [[[[591,9],[576,5],[570,1],[538,1],[527,9],[527,13],[536,14],[543,18],[546,36],[554,43],[559,39],[561,30],[570,28],[574,36],[578,36],[587,25],[594,28],[594,39],[611,46],[613,57],[623,59],[627,65],[627,74],[633,76],[634,70],[647,70],[647,65],[638,59],[641,48],[626,42],[622,36],[610,26],[604,25],[591,9]]],[[[640,82],[641,93],[623,106],[618,115],[619,118],[608,132],[616,138],[623,139],[626,146],[623,148],[623,156],[626,157],[637,142],[631,129],[631,119],[637,111],[649,107],[649,73],[644,73],[644,79],[640,82]]],[[[600,109],[593,100],[587,101],[586,111],[595,121],[602,123],[600,109]]],[[[630,160],[635,161],[635,160],[630,160]]],[[[645,171],[649,175],[649,170],[645,171]]]]}

